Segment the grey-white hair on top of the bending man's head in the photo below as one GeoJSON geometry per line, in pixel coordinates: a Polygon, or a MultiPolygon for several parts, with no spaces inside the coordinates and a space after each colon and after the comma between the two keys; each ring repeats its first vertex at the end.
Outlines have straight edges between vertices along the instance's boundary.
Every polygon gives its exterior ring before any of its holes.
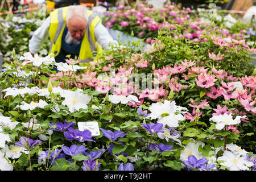
{"type": "Polygon", "coordinates": [[[84,16],[86,22],[88,22],[88,15],[87,15],[87,8],[86,6],[81,5],[72,5],[68,7],[66,21],[68,22],[75,15],[84,16]]]}

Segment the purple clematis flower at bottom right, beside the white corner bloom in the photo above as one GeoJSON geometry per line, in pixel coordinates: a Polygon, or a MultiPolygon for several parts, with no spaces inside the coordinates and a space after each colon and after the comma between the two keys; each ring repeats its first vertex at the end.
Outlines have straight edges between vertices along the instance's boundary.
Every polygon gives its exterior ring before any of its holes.
{"type": "Polygon", "coordinates": [[[192,169],[205,169],[208,160],[206,158],[197,160],[195,156],[189,155],[188,160],[180,159],[189,170],[192,169]]]}

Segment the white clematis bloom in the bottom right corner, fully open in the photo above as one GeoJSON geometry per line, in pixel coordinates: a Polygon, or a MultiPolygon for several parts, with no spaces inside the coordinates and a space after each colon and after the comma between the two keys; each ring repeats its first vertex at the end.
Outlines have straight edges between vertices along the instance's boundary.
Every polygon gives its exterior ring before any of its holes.
{"type": "Polygon", "coordinates": [[[253,162],[247,160],[240,154],[234,154],[233,152],[225,150],[222,156],[218,157],[217,161],[224,160],[221,163],[222,166],[226,166],[230,171],[249,170],[249,167],[253,166],[253,162]]]}

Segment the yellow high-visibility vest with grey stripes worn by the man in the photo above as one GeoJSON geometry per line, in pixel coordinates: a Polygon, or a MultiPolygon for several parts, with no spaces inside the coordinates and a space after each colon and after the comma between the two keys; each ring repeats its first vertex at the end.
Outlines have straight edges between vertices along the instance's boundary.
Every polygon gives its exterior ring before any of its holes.
{"type": "MultiPolygon", "coordinates": [[[[61,49],[61,39],[66,26],[65,19],[67,15],[67,7],[61,7],[50,13],[51,24],[49,26],[49,37],[52,42],[49,53],[53,53],[54,57],[59,55],[61,49]]],[[[88,23],[85,29],[84,38],[79,52],[79,58],[85,60],[93,57],[93,51],[96,49],[96,39],[94,37],[94,28],[101,22],[97,14],[87,10],[88,23]]]]}

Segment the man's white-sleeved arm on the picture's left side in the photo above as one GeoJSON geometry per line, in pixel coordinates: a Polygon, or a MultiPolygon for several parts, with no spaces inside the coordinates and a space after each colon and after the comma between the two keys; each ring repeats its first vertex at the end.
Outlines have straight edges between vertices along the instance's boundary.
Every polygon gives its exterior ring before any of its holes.
{"type": "Polygon", "coordinates": [[[40,26],[32,35],[32,38],[29,41],[28,47],[32,56],[40,49],[40,44],[44,39],[49,36],[49,26],[50,26],[50,17],[44,21],[42,26],[40,26]]]}

